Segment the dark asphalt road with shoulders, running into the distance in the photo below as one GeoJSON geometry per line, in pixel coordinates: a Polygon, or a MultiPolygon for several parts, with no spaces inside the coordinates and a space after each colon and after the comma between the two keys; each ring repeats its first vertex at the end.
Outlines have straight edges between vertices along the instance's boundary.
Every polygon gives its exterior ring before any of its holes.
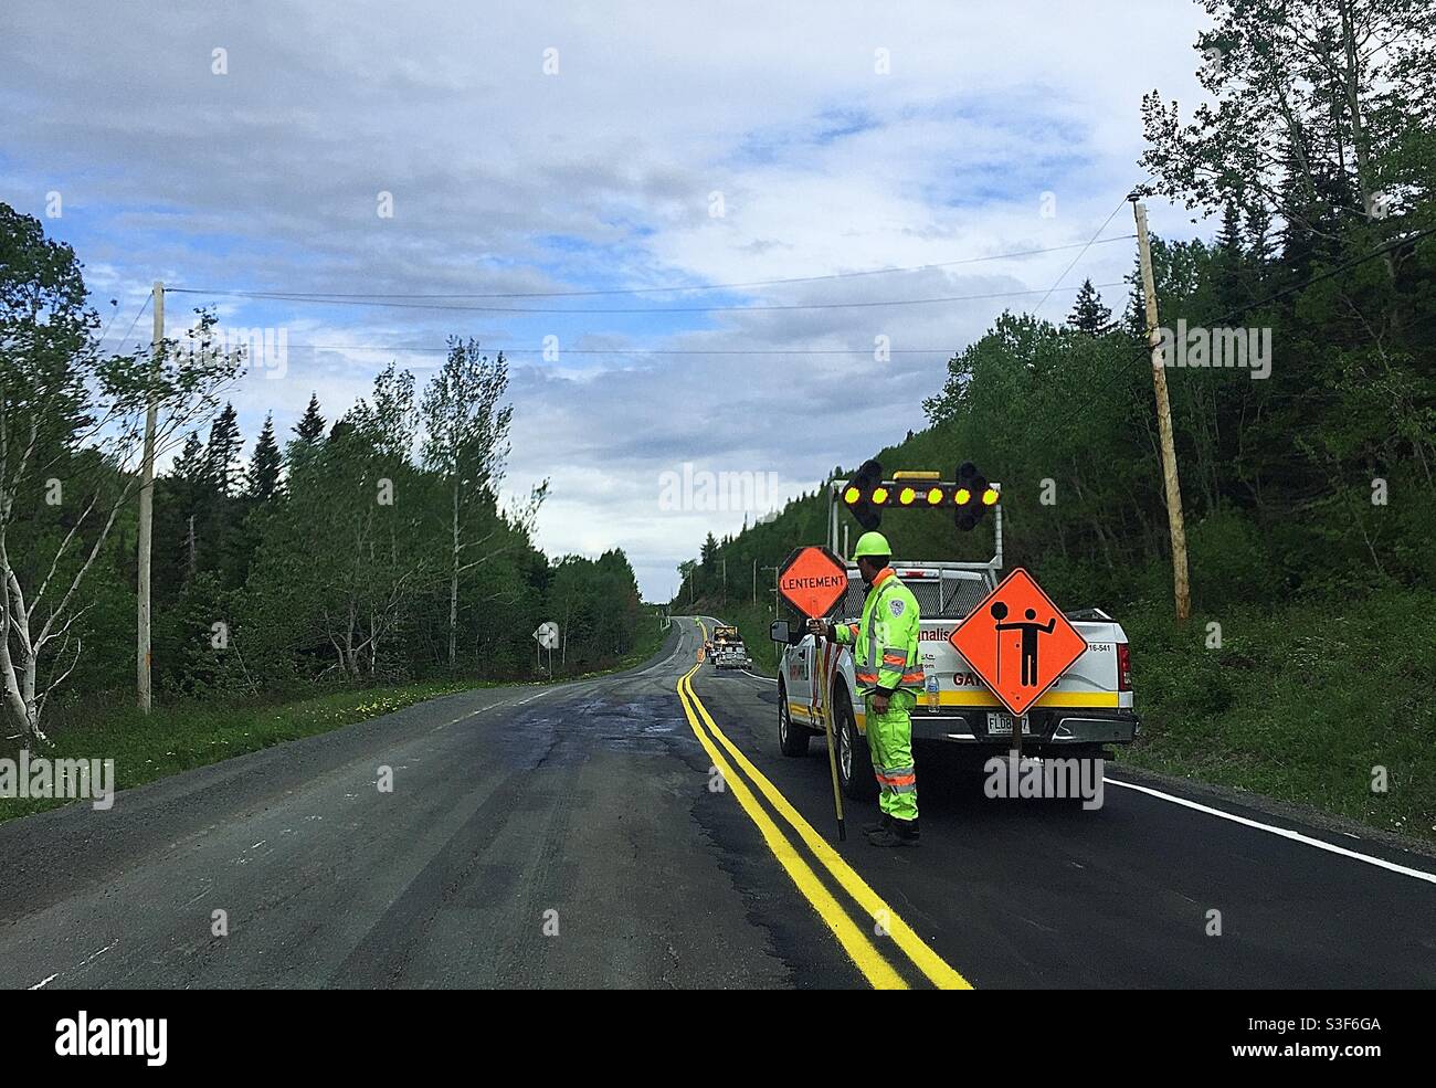
{"type": "Polygon", "coordinates": [[[919,749],[923,847],[827,845],[823,746],[699,644],[0,825],[0,986],[1436,985],[1429,858],[1117,774],[991,801],[919,749]]]}

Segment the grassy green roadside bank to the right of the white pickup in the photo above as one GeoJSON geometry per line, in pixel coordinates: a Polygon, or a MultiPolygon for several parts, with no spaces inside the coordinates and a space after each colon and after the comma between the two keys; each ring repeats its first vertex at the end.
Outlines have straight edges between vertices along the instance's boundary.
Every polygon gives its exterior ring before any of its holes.
{"type": "Polygon", "coordinates": [[[1143,736],[1120,758],[1436,838],[1436,640],[1420,637],[1433,609],[1430,591],[1386,590],[1203,609],[1183,626],[1140,606],[1123,624],[1143,736]]]}

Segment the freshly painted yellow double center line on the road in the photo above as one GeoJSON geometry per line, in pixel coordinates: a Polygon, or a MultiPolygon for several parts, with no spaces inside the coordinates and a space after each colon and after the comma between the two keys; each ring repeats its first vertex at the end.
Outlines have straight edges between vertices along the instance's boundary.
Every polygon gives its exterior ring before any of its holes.
{"type": "MultiPolygon", "coordinates": [[[[701,624],[699,624],[701,626],[701,624]]],[[[678,699],[682,703],[684,715],[688,718],[688,725],[692,726],[694,735],[698,742],[708,752],[709,758],[714,761],[714,766],[724,778],[724,784],[732,792],[734,799],[742,807],[742,811],[748,814],[748,818],[757,825],[763,835],[763,841],[767,844],[768,850],[783,866],[784,871],[791,877],[793,883],[797,886],[798,891],[813,904],[813,909],[823,919],[824,924],[837,937],[839,944],[852,957],[853,963],[863,973],[863,976],[876,988],[887,990],[908,989],[908,983],[903,980],[902,975],[887,962],[882,952],[873,944],[869,933],[883,932],[886,940],[890,940],[898,946],[912,963],[928,977],[928,980],[941,989],[972,989],[972,985],[964,979],[956,970],[954,970],[938,953],[923,943],[922,937],[912,932],[906,921],[899,917],[887,903],[879,896],[873,888],[863,880],[857,873],[853,871],[843,857],[833,850],[813,830],[813,825],[803,818],[788,799],[778,792],[778,788],[768,781],[768,778],[752,765],[752,762],[727,738],[718,723],[714,722],[712,715],[708,713],[708,708],[704,706],[702,700],[694,692],[692,676],[698,672],[699,665],[694,665],[682,679],[678,682],[678,699]],[[717,742],[715,742],[717,741],[717,742]],[[829,891],[827,886],[819,878],[817,873],[807,863],[804,855],[793,845],[791,840],[783,833],[773,817],[768,815],[767,810],[754,797],[752,789],[748,784],[734,772],[732,765],[724,758],[722,751],[718,745],[727,749],[728,755],[732,756],[732,762],[742,768],[748,779],[757,787],[758,792],[767,798],[768,804],[781,815],[788,827],[797,833],[803,845],[808,848],[813,858],[827,870],[829,876],[837,881],[837,886],[847,893],[847,896],[862,909],[862,913],[870,919],[872,926],[859,926],[847,910],[839,903],[839,900],[829,891]]]]}

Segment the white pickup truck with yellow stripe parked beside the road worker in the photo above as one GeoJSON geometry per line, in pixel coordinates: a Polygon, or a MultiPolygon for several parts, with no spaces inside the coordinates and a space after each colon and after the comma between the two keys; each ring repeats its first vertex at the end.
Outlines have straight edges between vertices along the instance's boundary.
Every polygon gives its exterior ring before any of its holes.
{"type": "MultiPolygon", "coordinates": [[[[933,474],[935,475],[935,474],[933,474]]],[[[830,492],[829,547],[839,550],[837,495],[830,492]]],[[[998,488],[999,485],[992,485],[998,488]]],[[[922,613],[919,647],[926,690],[912,712],[913,741],[941,741],[969,751],[978,762],[1002,755],[1012,729],[1022,731],[1025,755],[1097,756],[1106,745],[1132,744],[1140,728],[1132,706],[1132,659],[1122,624],[1099,609],[1064,613],[1087,640],[1081,655],[1034,705],[1014,722],[998,698],[948,642],[958,623],[997,586],[1002,568],[1002,507],[994,507],[995,555],[987,563],[912,563],[895,558],[893,571],[918,599],[922,613]]],[[[856,567],[847,571],[847,593],[830,617],[856,622],[866,587],[856,567]]],[[[839,779],[850,798],[872,799],[877,782],[867,755],[862,692],[853,677],[849,647],[807,634],[800,620],[775,620],[778,660],[778,745],[784,755],[806,755],[821,736],[831,706],[839,779]],[[827,677],[827,685],[821,683],[827,677]]]]}

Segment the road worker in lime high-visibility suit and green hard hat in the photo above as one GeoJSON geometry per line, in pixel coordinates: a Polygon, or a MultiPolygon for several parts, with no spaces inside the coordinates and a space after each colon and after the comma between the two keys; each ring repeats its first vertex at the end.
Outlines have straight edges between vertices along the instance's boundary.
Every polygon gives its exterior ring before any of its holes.
{"type": "Polygon", "coordinates": [[[867,841],[876,847],[915,847],[919,838],[912,709],[923,686],[918,599],[893,574],[892,548],[883,534],[859,537],[853,558],[867,586],[863,617],[839,624],[808,620],[808,630],[853,647],[853,673],[863,692],[867,749],[882,810],[879,822],[866,828],[867,841]]]}

